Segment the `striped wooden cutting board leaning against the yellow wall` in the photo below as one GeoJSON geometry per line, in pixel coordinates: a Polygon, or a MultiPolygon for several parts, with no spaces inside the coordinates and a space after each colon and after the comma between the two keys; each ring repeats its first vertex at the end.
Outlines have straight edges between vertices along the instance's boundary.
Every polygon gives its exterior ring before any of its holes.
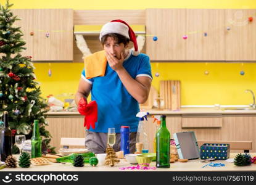
{"type": "Polygon", "coordinates": [[[164,109],[178,110],[181,107],[180,81],[161,80],[160,97],[163,98],[164,109]]]}

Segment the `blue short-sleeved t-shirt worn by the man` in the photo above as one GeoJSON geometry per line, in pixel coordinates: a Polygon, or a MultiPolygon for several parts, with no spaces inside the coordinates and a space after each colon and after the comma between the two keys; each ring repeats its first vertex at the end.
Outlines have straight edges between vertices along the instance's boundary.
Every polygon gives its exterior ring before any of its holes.
{"type": "MultiPolygon", "coordinates": [[[[131,50],[123,62],[123,67],[133,79],[137,76],[147,76],[152,79],[151,65],[146,54],[134,56],[131,50]]],[[[139,104],[126,90],[117,73],[107,63],[105,76],[91,79],[85,78],[85,69],[81,77],[92,84],[91,99],[97,102],[98,121],[95,129],[89,131],[107,133],[108,128],[115,128],[120,133],[121,126],[130,126],[130,132],[138,129],[139,104]]]]}

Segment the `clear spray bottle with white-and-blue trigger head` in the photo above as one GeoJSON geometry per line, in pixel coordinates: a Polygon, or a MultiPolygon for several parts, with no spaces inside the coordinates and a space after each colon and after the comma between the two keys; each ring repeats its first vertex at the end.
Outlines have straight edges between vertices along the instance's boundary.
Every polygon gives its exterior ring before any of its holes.
{"type": "Polygon", "coordinates": [[[146,123],[144,122],[144,118],[147,120],[148,112],[139,112],[136,117],[139,117],[139,125],[136,136],[136,144],[142,144],[142,153],[149,152],[149,138],[146,133],[146,123]]]}

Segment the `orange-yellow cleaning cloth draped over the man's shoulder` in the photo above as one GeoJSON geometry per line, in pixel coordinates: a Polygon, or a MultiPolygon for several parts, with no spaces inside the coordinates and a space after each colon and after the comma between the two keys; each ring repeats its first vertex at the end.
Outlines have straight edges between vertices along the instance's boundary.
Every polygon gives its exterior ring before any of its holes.
{"type": "Polygon", "coordinates": [[[98,51],[85,58],[85,76],[90,79],[96,76],[104,76],[107,67],[105,51],[98,51]]]}

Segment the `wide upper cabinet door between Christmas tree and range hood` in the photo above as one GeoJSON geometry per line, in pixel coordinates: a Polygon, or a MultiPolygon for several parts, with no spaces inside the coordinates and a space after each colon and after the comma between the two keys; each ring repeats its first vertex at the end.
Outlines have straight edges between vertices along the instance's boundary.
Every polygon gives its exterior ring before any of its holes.
{"type": "Polygon", "coordinates": [[[72,61],[72,9],[36,9],[33,14],[33,60],[72,61]],[[49,37],[46,33],[49,33],[49,37]]]}

